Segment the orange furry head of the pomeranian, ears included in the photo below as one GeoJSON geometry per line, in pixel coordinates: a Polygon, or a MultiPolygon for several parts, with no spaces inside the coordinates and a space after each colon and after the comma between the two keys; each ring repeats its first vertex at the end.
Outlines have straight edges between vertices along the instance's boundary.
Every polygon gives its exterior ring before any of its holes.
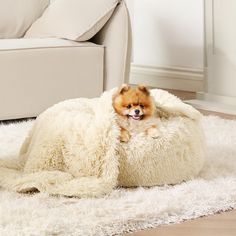
{"type": "Polygon", "coordinates": [[[142,85],[131,88],[123,85],[113,97],[115,111],[133,120],[142,120],[154,114],[155,105],[149,90],[142,85]]]}

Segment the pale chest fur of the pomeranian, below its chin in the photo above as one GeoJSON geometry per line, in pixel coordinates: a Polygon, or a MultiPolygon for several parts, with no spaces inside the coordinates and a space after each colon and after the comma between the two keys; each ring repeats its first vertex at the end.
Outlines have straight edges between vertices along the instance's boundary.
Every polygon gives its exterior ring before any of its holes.
{"type": "Polygon", "coordinates": [[[151,117],[144,120],[134,120],[132,118],[119,118],[118,124],[120,127],[129,131],[131,136],[146,132],[152,126],[159,126],[160,118],[151,117]]]}

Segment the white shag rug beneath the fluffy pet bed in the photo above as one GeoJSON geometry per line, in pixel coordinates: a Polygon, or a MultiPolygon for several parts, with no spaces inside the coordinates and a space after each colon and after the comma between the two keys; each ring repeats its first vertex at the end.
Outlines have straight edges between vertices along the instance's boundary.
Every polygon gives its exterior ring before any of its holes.
{"type": "MultiPolygon", "coordinates": [[[[0,189],[0,235],[121,235],[236,208],[236,121],[204,117],[207,160],[175,186],[117,189],[100,199],[0,189]]],[[[32,122],[0,126],[0,157],[15,155],[32,122]]]]}

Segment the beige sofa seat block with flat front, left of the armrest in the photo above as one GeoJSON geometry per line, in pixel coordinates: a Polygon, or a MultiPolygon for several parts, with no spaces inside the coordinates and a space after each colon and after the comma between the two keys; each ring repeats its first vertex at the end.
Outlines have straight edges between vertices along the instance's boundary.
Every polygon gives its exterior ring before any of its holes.
{"type": "Polygon", "coordinates": [[[103,91],[104,47],[63,39],[0,40],[0,119],[103,91]],[[7,103],[6,103],[7,101],[7,103]]]}

